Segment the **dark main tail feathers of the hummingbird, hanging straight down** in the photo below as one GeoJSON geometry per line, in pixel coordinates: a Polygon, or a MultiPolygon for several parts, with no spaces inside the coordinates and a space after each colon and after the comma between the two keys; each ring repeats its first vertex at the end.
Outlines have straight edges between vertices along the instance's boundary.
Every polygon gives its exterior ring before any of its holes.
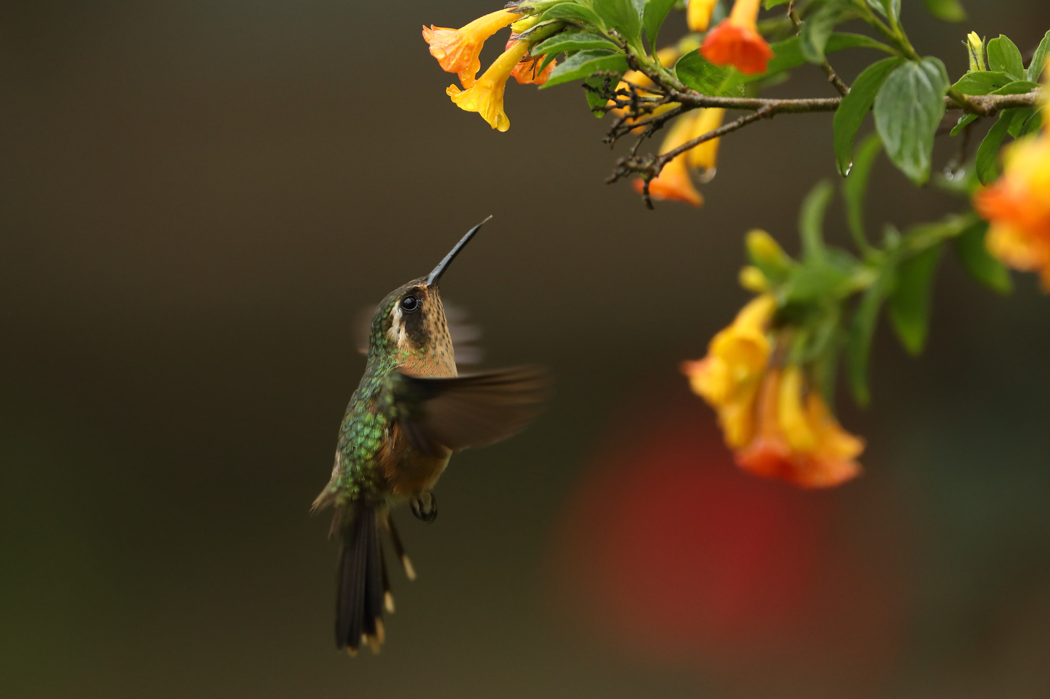
{"type": "Polygon", "coordinates": [[[335,612],[335,642],[356,655],[361,642],[373,652],[383,642],[383,602],[386,592],[382,550],[374,505],[357,504],[342,527],[335,612]]]}

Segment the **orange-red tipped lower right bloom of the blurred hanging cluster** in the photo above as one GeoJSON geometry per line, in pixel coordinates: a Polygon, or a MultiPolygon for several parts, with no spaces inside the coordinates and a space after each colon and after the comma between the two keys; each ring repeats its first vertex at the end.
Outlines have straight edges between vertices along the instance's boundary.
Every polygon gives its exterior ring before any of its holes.
{"type": "Polygon", "coordinates": [[[771,369],[758,405],[758,436],[737,451],[744,471],[808,488],[833,487],[857,477],[864,441],[839,425],[802,371],[771,369]],[[804,394],[804,395],[803,395],[804,394]]]}

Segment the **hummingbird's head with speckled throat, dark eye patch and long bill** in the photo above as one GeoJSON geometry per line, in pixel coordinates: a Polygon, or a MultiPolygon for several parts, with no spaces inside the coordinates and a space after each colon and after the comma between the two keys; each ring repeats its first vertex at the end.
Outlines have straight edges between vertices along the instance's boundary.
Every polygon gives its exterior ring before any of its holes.
{"type": "Polygon", "coordinates": [[[370,361],[380,355],[393,356],[398,366],[413,373],[456,375],[456,357],[438,282],[487,221],[488,218],[470,228],[429,275],[386,294],[372,318],[370,361]]]}

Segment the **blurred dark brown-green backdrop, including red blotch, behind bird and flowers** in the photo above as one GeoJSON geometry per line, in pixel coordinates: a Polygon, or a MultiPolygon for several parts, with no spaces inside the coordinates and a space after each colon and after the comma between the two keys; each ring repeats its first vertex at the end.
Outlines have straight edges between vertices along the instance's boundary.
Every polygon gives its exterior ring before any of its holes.
{"type": "MultiPolygon", "coordinates": [[[[0,9],[0,696],[1050,696],[1034,280],[999,298],[946,256],[925,355],[881,328],[874,407],[839,400],[865,476],[743,476],[676,367],[747,299],[747,230],[797,249],[831,115],[722,139],[704,209],[646,211],[603,183],[618,153],[579,86],[511,84],[502,134],[448,102],[420,25],[500,4],[0,9]],[[558,396],[454,459],[434,525],[400,512],[419,580],[350,660],[308,509],[355,322],[488,214],[442,289],[488,366],[546,364],[558,396]]],[[[904,4],[953,77],[966,31],[1027,51],[1050,28],[1044,0],[962,25],[904,4]]],[[[833,94],[796,73],[771,94],[833,94]]],[[[874,177],[872,225],[959,205],[874,177]]]]}

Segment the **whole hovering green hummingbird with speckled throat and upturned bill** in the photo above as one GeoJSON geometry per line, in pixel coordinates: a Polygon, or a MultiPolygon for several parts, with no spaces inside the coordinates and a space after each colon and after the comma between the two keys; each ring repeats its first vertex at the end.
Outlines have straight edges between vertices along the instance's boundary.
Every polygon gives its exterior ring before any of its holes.
{"type": "Polygon", "coordinates": [[[454,452],[514,434],[546,397],[546,372],[517,367],[459,375],[438,283],[491,216],[470,228],[430,274],[399,286],[372,315],[368,364],[339,427],[335,465],[313,509],[333,507],[341,539],[336,648],[378,652],[383,611],[394,611],[380,531],[408,580],[416,571],[391,518],[407,502],[437,517],[433,488],[454,452]]]}

